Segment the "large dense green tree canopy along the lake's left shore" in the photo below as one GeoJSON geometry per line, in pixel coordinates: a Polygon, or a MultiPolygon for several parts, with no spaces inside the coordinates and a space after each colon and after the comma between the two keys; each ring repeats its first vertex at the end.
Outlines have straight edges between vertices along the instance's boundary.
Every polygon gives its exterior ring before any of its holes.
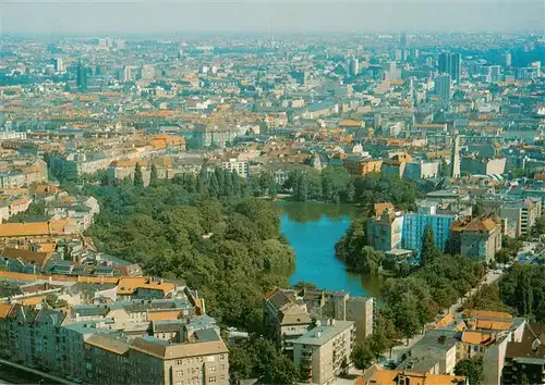
{"type": "Polygon", "coordinates": [[[215,190],[214,177],[192,178],[193,186],[190,178],[148,188],[87,186],[101,203],[89,233],[100,250],[141,263],[147,274],[198,288],[222,324],[258,332],[263,293],[288,285],[293,252],[269,201],[245,197],[250,189],[232,173],[214,176],[222,178],[215,190]]]}

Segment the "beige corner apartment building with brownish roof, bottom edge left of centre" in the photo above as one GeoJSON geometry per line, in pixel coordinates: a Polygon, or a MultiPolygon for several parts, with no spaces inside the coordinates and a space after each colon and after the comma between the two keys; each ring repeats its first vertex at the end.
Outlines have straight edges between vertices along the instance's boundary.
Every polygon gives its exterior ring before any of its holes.
{"type": "Polygon", "coordinates": [[[229,350],[214,330],[191,341],[171,344],[153,336],[116,334],[85,341],[86,378],[101,384],[229,384],[229,350]]]}

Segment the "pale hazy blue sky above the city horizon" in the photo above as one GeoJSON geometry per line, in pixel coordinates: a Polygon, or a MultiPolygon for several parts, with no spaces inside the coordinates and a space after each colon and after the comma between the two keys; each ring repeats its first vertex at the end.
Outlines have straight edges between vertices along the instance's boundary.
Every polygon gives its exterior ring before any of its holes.
{"type": "Polygon", "coordinates": [[[0,0],[2,33],[543,32],[544,0],[0,0]]]}

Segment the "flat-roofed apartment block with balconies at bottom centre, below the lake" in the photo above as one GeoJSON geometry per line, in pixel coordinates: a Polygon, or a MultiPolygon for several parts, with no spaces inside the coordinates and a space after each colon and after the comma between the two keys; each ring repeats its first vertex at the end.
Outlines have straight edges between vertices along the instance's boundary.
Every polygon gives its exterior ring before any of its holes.
{"type": "Polygon", "coordinates": [[[354,323],[330,320],[293,341],[293,361],[306,374],[306,382],[335,384],[349,369],[354,344],[354,323]]]}

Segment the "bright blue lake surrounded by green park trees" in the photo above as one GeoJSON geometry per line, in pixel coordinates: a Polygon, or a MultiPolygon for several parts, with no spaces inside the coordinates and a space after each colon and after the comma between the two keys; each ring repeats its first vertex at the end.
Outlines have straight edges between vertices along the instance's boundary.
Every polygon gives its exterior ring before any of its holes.
{"type": "Polygon", "coordinates": [[[280,229],[295,251],[290,283],[313,283],[352,296],[375,296],[378,277],[350,273],[335,257],[335,244],[344,235],[354,208],[344,204],[282,202],[280,229]]]}

